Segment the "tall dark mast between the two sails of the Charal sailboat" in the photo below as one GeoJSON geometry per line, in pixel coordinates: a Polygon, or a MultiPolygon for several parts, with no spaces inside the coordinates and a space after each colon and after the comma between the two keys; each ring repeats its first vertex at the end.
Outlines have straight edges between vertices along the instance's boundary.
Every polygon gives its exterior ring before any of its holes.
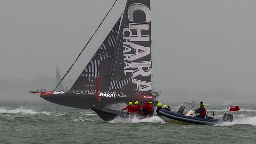
{"type": "Polygon", "coordinates": [[[118,35],[117,35],[116,46],[115,46],[115,51],[114,51],[114,55],[113,55],[113,59],[112,59],[112,64],[111,64],[111,67],[110,67],[110,72],[109,72],[109,75],[108,75],[108,89],[109,89],[109,85],[110,85],[110,82],[111,82],[111,79],[112,79],[112,76],[113,76],[114,65],[116,63],[116,56],[117,56],[119,45],[121,43],[123,29],[124,29],[124,20],[126,19],[129,5],[130,5],[130,0],[127,0],[126,5],[125,5],[125,9],[124,9],[123,18],[121,20],[121,25],[120,25],[118,35]]]}

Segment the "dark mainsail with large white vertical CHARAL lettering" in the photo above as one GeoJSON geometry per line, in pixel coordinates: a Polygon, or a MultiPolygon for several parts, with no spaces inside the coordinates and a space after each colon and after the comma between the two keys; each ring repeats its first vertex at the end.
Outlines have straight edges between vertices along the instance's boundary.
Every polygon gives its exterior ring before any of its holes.
{"type": "Polygon", "coordinates": [[[122,33],[108,88],[150,92],[152,61],[149,0],[130,0],[122,33]]]}

